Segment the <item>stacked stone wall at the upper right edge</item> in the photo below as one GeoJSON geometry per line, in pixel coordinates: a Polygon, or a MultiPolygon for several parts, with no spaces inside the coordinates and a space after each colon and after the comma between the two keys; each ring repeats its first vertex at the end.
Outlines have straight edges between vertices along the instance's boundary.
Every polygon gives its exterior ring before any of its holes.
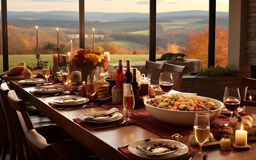
{"type": "Polygon", "coordinates": [[[256,0],[248,0],[247,19],[247,42],[246,42],[246,77],[256,78],[253,66],[256,66],[256,0]]]}

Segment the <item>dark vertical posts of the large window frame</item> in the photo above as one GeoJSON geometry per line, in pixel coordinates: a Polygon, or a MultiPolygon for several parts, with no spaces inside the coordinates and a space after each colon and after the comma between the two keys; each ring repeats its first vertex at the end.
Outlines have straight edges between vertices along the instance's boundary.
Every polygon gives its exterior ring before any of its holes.
{"type": "MultiPolygon", "coordinates": [[[[79,0],[79,46],[85,48],[85,0],[79,0]]],[[[1,0],[3,70],[9,70],[7,1],[1,0]]],[[[156,61],[156,0],[150,0],[149,61],[156,61]]],[[[208,68],[215,64],[216,0],[209,0],[208,68]]]]}

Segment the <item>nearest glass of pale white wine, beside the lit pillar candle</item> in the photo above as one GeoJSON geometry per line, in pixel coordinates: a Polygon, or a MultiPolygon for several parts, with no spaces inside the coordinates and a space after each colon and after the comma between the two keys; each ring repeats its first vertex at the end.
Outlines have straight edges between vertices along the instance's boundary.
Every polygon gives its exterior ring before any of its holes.
{"type": "Polygon", "coordinates": [[[199,152],[195,155],[198,157],[203,157],[204,153],[202,153],[202,144],[207,141],[210,135],[210,121],[209,114],[207,113],[196,113],[195,114],[195,122],[194,122],[194,135],[195,140],[199,143],[199,152]]]}

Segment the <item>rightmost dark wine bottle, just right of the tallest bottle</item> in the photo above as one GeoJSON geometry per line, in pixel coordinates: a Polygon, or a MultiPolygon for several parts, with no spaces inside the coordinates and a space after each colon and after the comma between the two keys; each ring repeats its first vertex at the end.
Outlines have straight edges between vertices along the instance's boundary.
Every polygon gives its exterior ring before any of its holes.
{"type": "Polygon", "coordinates": [[[137,82],[137,69],[132,68],[132,89],[134,94],[134,110],[139,109],[139,83],[137,82]]]}

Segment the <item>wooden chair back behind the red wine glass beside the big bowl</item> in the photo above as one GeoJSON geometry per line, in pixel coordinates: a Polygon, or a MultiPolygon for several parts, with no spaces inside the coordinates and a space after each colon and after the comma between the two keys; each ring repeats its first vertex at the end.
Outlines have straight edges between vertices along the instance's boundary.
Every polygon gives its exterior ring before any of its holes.
{"type": "Polygon", "coordinates": [[[186,71],[188,66],[178,66],[175,64],[167,64],[164,63],[162,67],[163,72],[172,72],[173,73],[173,90],[180,90],[180,84],[182,81],[182,77],[186,71]]]}

